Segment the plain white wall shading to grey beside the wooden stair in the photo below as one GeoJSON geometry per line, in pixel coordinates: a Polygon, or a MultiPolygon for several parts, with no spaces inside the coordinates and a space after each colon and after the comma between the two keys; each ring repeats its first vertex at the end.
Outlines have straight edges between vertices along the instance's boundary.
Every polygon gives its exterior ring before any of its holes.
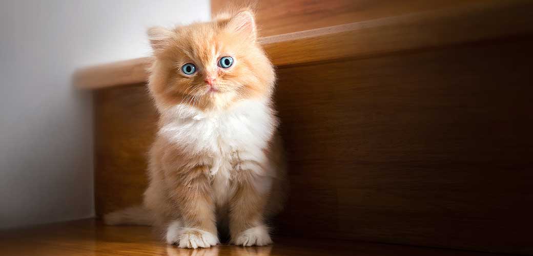
{"type": "Polygon", "coordinates": [[[88,64],[149,54],[145,31],[209,18],[208,0],[0,1],[0,228],[91,217],[88,64]]]}

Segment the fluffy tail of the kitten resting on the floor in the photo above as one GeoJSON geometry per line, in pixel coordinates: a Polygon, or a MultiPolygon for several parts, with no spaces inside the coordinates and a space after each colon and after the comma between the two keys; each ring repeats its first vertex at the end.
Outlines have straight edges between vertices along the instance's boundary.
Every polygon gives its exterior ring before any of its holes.
{"type": "Polygon", "coordinates": [[[107,213],[103,216],[106,225],[153,226],[154,214],[141,205],[107,213]]]}

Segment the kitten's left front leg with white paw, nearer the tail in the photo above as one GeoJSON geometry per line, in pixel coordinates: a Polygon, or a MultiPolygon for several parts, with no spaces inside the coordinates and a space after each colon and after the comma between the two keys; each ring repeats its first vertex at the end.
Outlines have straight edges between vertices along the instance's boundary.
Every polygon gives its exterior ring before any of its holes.
{"type": "Polygon", "coordinates": [[[173,181],[171,199],[179,208],[181,218],[167,228],[167,243],[180,248],[207,248],[219,243],[208,168],[197,166],[167,176],[173,181]]]}

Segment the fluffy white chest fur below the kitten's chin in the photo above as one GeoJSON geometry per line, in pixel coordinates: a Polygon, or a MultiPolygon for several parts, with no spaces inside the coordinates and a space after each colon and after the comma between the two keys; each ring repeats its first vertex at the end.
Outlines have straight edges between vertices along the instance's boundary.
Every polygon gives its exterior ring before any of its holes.
{"type": "Polygon", "coordinates": [[[229,176],[231,161],[264,162],[263,149],[277,126],[266,100],[240,101],[227,110],[203,112],[177,105],[163,115],[159,136],[187,154],[206,155],[212,175],[229,176]]]}

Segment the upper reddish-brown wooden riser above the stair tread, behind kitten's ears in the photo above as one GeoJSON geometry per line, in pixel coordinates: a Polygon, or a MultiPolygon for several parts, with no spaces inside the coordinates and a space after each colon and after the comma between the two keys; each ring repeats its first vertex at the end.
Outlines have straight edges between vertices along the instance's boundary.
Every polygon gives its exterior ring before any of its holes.
{"type": "Polygon", "coordinates": [[[436,11],[479,0],[212,0],[211,14],[255,3],[261,36],[337,26],[403,14],[436,11]]]}

